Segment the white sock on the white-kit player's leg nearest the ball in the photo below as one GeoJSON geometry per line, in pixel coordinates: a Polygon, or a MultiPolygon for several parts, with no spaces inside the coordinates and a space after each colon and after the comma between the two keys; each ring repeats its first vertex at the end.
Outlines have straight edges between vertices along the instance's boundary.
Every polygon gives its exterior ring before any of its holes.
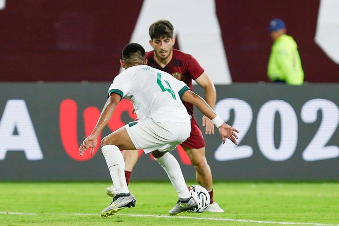
{"type": "Polygon", "coordinates": [[[172,183],[174,189],[177,191],[179,198],[187,199],[191,195],[188,192],[185,179],[183,178],[180,165],[178,161],[169,152],[165,153],[160,158],[155,158],[158,163],[164,168],[169,180],[172,183]]]}

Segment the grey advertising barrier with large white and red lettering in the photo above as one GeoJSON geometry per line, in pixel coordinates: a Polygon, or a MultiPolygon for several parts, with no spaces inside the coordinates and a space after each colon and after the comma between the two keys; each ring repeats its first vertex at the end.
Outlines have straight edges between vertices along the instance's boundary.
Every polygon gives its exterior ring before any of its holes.
{"type": "MultiPolygon", "coordinates": [[[[97,148],[78,148],[95,126],[110,83],[0,83],[1,181],[110,180],[97,148]]],[[[194,86],[196,93],[203,90],[194,86]]],[[[238,146],[204,135],[214,180],[327,181],[339,179],[339,85],[217,85],[215,111],[240,131],[238,146]]],[[[133,121],[123,100],[102,137],[133,121]]],[[[201,126],[202,114],[195,111],[201,126]]],[[[202,131],[204,128],[201,126],[202,131]]],[[[167,180],[150,155],[140,153],[132,180],[167,180]]],[[[195,171],[172,151],[186,179],[195,171]]]]}

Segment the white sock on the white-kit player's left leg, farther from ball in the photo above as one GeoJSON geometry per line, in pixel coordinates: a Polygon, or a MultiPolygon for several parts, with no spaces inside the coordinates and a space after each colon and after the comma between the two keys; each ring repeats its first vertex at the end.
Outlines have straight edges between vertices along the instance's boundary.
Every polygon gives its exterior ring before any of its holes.
{"type": "Polygon", "coordinates": [[[119,148],[115,145],[105,145],[101,151],[104,154],[117,194],[129,193],[125,178],[125,162],[119,148]]]}

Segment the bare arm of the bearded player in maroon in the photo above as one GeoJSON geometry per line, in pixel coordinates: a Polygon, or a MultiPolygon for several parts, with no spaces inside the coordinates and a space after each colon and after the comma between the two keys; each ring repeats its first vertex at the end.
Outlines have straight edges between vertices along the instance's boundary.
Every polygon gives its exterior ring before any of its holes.
{"type": "MultiPolygon", "coordinates": [[[[214,108],[216,101],[216,91],[212,80],[208,77],[206,72],[203,72],[197,79],[196,83],[204,88],[205,101],[211,108],[214,108]]],[[[202,117],[202,126],[205,127],[205,134],[214,134],[214,125],[212,121],[205,115],[202,117]]]]}

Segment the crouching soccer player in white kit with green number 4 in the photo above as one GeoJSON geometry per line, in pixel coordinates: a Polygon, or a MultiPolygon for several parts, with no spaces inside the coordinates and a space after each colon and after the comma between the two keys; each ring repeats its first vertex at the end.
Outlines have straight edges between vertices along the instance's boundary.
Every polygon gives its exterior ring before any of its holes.
{"type": "Polygon", "coordinates": [[[179,163],[169,153],[189,137],[190,118],[181,99],[194,104],[219,129],[225,142],[230,139],[237,144],[238,130],[225,124],[212,108],[188,86],[170,74],[146,65],[145,49],[130,43],[123,49],[120,64],[126,70],[114,78],[108,90],[108,100],[101,112],[96,127],[81,144],[80,155],[91,148],[93,154],[98,135],[111,119],[113,112],[125,97],[132,101],[139,120],[129,123],[101,140],[105,157],[117,195],[101,212],[101,216],[115,215],[119,210],[134,207],[136,198],[130,193],[125,178],[125,162],[120,150],[143,149],[152,155],[164,168],[178,193],[177,204],[169,211],[177,215],[197,206],[197,197],[188,192],[179,163]]]}

